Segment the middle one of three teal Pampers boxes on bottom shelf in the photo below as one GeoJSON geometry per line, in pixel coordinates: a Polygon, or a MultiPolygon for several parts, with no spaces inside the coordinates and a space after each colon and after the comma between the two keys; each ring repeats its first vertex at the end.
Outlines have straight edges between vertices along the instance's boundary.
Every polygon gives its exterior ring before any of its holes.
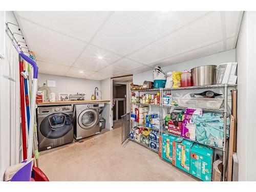
{"type": "Polygon", "coordinates": [[[173,165],[189,173],[190,149],[193,141],[177,138],[173,141],[173,165]]]}

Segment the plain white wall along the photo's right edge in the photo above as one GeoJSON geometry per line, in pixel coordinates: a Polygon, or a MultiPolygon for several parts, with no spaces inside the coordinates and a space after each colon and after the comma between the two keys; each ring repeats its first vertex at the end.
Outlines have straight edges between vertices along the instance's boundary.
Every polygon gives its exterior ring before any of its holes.
{"type": "Polygon", "coordinates": [[[245,12],[236,49],[238,62],[237,154],[239,181],[256,181],[256,12],[245,12]]]}

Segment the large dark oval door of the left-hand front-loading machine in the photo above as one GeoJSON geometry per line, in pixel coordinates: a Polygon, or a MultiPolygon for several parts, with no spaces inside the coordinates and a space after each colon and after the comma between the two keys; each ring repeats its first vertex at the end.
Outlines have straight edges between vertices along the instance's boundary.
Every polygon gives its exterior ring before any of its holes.
{"type": "Polygon", "coordinates": [[[49,139],[57,139],[65,136],[72,130],[73,120],[65,113],[48,115],[40,124],[41,134],[49,139]]]}

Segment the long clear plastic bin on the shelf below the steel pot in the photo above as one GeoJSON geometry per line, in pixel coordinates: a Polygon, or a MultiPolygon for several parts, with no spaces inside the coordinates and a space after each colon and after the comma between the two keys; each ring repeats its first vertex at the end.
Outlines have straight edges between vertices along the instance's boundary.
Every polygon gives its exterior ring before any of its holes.
{"type": "Polygon", "coordinates": [[[177,98],[179,106],[185,108],[220,109],[224,101],[222,98],[177,98]]]}

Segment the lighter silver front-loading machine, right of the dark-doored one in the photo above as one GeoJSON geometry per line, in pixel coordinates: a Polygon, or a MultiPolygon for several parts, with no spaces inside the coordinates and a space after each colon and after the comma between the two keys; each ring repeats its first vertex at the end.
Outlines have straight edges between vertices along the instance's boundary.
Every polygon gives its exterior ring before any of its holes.
{"type": "Polygon", "coordinates": [[[75,104],[74,108],[75,140],[99,134],[99,104],[75,104]]]}

